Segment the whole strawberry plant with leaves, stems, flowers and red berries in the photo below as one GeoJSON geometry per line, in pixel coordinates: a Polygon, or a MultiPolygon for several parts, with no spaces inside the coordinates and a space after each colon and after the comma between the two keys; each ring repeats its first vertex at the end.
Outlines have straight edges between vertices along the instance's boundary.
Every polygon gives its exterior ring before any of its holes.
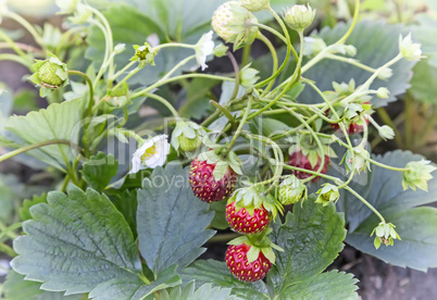
{"type": "Polygon", "coordinates": [[[47,100],[16,115],[0,92],[0,162],[36,173],[0,176],[0,295],[359,299],[353,274],[326,271],[345,242],[437,266],[437,168],[372,153],[395,138],[374,111],[423,59],[401,26],[359,21],[358,0],[321,30],[311,2],[57,2],[62,30],[0,3],[37,43],[1,28],[0,60],[47,100]]]}

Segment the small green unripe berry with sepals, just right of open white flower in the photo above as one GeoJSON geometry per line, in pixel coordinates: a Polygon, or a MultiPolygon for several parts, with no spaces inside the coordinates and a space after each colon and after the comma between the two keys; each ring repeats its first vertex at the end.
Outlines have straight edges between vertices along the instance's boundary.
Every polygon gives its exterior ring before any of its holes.
{"type": "Polygon", "coordinates": [[[202,145],[207,132],[193,122],[177,122],[172,134],[172,146],[176,151],[192,152],[202,145]]]}

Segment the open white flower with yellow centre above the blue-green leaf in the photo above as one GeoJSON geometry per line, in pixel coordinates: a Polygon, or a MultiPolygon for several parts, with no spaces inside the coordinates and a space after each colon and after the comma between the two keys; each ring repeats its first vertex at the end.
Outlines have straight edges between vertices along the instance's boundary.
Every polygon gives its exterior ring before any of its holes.
{"type": "Polygon", "coordinates": [[[164,165],[168,152],[170,143],[166,135],[159,135],[146,140],[135,151],[132,158],[132,170],[129,173],[137,173],[145,168],[155,168],[157,166],[164,165]]]}

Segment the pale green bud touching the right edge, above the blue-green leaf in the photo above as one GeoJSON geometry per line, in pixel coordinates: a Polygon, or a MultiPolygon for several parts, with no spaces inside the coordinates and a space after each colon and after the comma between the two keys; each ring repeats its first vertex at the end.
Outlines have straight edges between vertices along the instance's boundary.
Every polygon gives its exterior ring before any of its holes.
{"type": "Polygon", "coordinates": [[[428,190],[428,180],[433,178],[434,171],[437,170],[434,165],[429,165],[429,161],[409,162],[405,165],[407,171],[402,172],[402,187],[412,190],[416,188],[428,190]]]}

